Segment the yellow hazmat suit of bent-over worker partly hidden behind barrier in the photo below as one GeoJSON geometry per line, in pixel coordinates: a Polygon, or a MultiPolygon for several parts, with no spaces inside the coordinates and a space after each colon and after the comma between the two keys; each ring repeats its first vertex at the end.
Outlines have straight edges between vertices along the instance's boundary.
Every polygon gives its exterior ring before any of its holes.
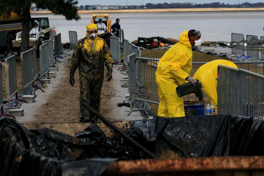
{"type": "Polygon", "coordinates": [[[225,65],[237,69],[237,66],[228,60],[214,60],[202,65],[194,74],[195,79],[202,83],[204,92],[208,95],[210,102],[217,109],[217,68],[218,65],[225,65]]]}

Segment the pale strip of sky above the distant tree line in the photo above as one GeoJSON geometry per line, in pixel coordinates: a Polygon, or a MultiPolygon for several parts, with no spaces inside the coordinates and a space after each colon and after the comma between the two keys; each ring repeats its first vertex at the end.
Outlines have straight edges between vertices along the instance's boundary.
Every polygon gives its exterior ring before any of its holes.
{"type": "MultiPolygon", "coordinates": [[[[101,5],[126,5],[126,0],[96,0],[96,1],[90,1],[90,0],[79,0],[79,5],[94,5],[94,4],[101,4],[101,5]]],[[[128,5],[145,5],[147,3],[172,3],[172,2],[195,2],[195,3],[211,3],[211,2],[221,2],[221,3],[229,3],[229,4],[238,4],[238,0],[197,0],[197,1],[190,1],[190,0],[128,0],[128,5]]],[[[239,0],[240,3],[243,2],[263,2],[261,0],[239,0]]]]}

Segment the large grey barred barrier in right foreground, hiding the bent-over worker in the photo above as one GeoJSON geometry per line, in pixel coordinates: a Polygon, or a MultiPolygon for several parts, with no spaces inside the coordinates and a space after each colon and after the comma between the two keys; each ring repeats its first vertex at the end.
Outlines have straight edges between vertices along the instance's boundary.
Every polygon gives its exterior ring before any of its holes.
{"type": "Polygon", "coordinates": [[[264,119],[264,76],[218,66],[218,114],[264,119]]]}

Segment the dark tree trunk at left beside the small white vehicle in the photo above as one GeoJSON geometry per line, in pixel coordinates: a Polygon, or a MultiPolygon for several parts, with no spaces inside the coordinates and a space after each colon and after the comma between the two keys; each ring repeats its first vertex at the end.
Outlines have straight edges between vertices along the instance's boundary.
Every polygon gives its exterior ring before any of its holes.
{"type": "Polygon", "coordinates": [[[22,12],[22,36],[21,36],[21,49],[22,52],[29,49],[29,20],[30,20],[30,6],[24,7],[22,12]]]}

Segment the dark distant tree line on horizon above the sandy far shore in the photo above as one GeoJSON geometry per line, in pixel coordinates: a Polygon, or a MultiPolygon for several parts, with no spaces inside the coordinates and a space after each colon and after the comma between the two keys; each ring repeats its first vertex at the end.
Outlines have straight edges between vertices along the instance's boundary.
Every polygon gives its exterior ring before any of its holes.
{"type": "MultiPolygon", "coordinates": [[[[95,10],[98,9],[98,7],[110,7],[110,6],[102,6],[102,5],[81,5],[79,6],[79,10],[95,10]]],[[[250,3],[245,2],[241,4],[224,4],[220,2],[212,2],[212,3],[204,3],[204,4],[197,4],[192,2],[186,2],[186,3],[148,3],[140,6],[115,6],[116,9],[177,9],[177,8],[260,8],[264,7],[263,2],[258,3],[250,3]]]]}

